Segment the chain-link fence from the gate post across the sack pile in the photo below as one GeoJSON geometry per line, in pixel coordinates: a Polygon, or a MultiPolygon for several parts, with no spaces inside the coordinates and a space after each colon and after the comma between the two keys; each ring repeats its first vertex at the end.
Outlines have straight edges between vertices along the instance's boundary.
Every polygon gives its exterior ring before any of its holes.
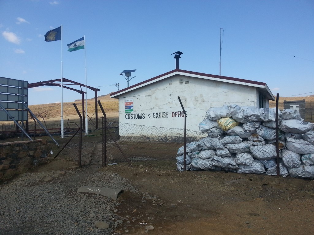
{"type": "Polygon", "coordinates": [[[210,108],[198,132],[186,130],[186,141],[184,128],[114,125],[116,137],[130,159],[176,156],[180,171],[224,170],[313,179],[313,124],[305,122],[295,110],[277,112],[276,128],[276,108],[236,104],[210,108]]]}

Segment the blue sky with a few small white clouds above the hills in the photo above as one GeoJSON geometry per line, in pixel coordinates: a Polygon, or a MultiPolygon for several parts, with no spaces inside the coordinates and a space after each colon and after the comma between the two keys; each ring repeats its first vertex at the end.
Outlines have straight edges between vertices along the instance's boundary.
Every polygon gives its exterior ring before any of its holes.
{"type": "MultiPolygon", "coordinates": [[[[175,69],[176,51],[180,69],[219,75],[220,28],[222,76],[266,82],[280,96],[314,94],[313,0],[0,0],[0,76],[60,79],[62,55],[63,77],[85,84],[86,52],[87,85],[106,95],[127,87],[122,70],[136,69],[131,86],[175,69]],[[61,25],[62,44],[45,42],[61,25]],[[68,52],[84,35],[85,51],[68,52]]],[[[63,91],[63,102],[80,98],[63,91]]],[[[28,101],[61,102],[61,88],[31,88],[28,101]]]]}

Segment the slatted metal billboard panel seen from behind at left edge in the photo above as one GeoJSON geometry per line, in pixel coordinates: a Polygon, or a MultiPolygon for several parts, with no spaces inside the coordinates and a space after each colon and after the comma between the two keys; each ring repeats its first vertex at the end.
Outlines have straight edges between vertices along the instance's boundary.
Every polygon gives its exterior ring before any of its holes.
{"type": "Polygon", "coordinates": [[[0,121],[27,121],[27,81],[0,77],[0,121]],[[3,108],[5,110],[3,110],[3,108]],[[5,112],[7,111],[7,112],[5,112]]]}

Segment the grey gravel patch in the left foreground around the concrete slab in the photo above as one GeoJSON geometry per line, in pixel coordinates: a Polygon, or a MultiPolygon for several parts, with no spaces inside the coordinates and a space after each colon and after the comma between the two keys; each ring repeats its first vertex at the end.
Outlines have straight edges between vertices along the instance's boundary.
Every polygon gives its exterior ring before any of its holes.
{"type": "Polygon", "coordinates": [[[116,173],[97,172],[92,165],[78,170],[25,173],[0,185],[0,234],[115,234],[115,229],[134,221],[114,213],[118,201],[77,193],[83,185],[138,193],[127,179],[116,173]]]}

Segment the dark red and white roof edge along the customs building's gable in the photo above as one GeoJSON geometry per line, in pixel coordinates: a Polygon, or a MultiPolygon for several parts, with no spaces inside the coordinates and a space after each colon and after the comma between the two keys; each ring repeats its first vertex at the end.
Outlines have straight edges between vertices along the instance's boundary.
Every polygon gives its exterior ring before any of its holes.
{"type": "Polygon", "coordinates": [[[259,81],[251,81],[251,80],[246,80],[246,79],[241,79],[241,78],[235,78],[235,77],[226,77],[226,76],[219,76],[219,75],[213,75],[213,74],[206,74],[206,73],[198,73],[198,72],[193,72],[193,71],[188,71],[188,70],[181,70],[181,69],[175,69],[175,70],[171,70],[169,72],[166,72],[164,74],[161,74],[161,75],[158,75],[156,77],[153,77],[153,78],[150,78],[148,80],[145,80],[145,81],[142,81],[142,82],[139,82],[137,84],[134,84],[133,86],[129,86],[127,88],[124,88],[120,91],[116,91],[116,92],[112,92],[110,94],[110,96],[115,96],[116,94],[118,93],[121,93],[123,91],[127,91],[129,89],[133,89],[134,87],[137,87],[137,86],[140,86],[140,85],[143,85],[145,83],[148,83],[150,81],[154,81],[160,77],[163,77],[163,76],[166,76],[166,75],[169,75],[171,73],[174,73],[174,72],[182,72],[182,73],[187,73],[187,74],[194,74],[194,75],[198,75],[198,76],[206,76],[206,77],[214,77],[214,78],[219,78],[219,79],[225,79],[225,80],[229,80],[229,81],[238,81],[238,82],[246,82],[246,83],[251,83],[251,84],[254,84],[254,85],[260,85],[260,86],[267,86],[265,82],[259,82],[259,81]]]}

